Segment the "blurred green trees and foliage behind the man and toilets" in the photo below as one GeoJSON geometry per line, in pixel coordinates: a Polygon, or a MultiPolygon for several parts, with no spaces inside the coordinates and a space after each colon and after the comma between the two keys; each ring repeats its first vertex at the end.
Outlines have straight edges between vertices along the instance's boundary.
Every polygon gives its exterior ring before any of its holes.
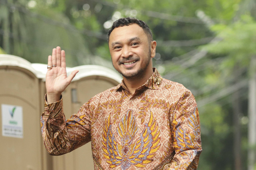
{"type": "Polygon", "coordinates": [[[0,54],[46,64],[60,46],[69,67],[114,69],[106,34],[122,17],[149,25],[154,67],[197,100],[198,170],[256,170],[255,0],[0,0],[0,54]]]}

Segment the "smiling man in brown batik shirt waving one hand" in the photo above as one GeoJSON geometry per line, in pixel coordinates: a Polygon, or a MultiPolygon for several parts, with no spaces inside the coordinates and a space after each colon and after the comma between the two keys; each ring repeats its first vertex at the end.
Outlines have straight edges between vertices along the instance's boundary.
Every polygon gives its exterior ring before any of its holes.
{"type": "Polygon", "coordinates": [[[198,108],[190,90],[152,67],[156,41],[146,23],[115,21],[108,33],[114,68],[122,82],[97,94],[65,121],[61,93],[78,70],[66,75],[65,52],[48,57],[44,145],[61,155],[92,141],[100,170],[194,170],[202,152],[198,108]]]}

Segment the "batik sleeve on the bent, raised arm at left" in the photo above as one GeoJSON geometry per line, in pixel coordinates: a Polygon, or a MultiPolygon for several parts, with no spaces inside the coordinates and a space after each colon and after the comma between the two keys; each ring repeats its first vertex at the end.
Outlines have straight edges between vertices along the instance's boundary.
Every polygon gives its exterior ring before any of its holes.
{"type": "Polygon", "coordinates": [[[77,114],[66,120],[62,99],[47,104],[41,116],[41,130],[46,150],[51,155],[61,155],[90,141],[90,119],[84,104],[77,114]]]}

